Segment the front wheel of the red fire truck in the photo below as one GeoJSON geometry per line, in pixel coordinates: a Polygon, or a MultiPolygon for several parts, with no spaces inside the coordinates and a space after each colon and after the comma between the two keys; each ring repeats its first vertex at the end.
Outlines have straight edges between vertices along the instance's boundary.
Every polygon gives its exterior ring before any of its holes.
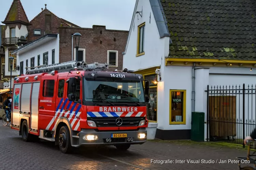
{"type": "Polygon", "coordinates": [[[68,126],[62,126],[59,130],[59,149],[62,153],[71,153],[71,138],[68,126]]]}

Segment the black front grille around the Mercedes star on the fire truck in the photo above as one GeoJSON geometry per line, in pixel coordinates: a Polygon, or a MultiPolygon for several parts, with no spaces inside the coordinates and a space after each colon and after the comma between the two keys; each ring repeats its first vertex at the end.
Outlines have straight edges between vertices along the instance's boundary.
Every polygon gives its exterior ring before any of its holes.
{"type": "MultiPolygon", "coordinates": [[[[97,127],[116,127],[116,119],[118,117],[88,117],[88,120],[94,121],[97,127]]],[[[141,120],[145,117],[121,117],[123,123],[118,127],[123,126],[139,126],[141,120]]]]}

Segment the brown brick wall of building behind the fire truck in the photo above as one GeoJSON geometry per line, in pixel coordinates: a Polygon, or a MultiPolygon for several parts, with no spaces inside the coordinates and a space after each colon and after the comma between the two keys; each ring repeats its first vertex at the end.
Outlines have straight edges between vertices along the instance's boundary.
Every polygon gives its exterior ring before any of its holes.
{"type": "MultiPolygon", "coordinates": [[[[57,32],[60,37],[60,63],[72,60],[71,34],[79,32],[82,35],[82,37],[80,37],[79,48],[85,49],[85,62],[87,64],[94,62],[107,63],[107,50],[118,50],[118,68],[110,67],[110,69],[123,69],[122,52],[125,51],[128,31],[106,30],[105,26],[93,26],[92,29],[60,27],[57,29],[57,32]]],[[[73,48],[75,48],[75,38],[73,40],[73,48]]]]}

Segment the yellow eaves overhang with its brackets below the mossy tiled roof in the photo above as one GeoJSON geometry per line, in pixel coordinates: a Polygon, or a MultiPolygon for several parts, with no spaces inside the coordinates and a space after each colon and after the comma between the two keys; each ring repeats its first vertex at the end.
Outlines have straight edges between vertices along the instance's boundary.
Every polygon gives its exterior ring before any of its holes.
{"type": "Polygon", "coordinates": [[[222,58],[177,58],[166,57],[166,66],[207,66],[207,67],[256,67],[256,60],[234,60],[222,58]]]}

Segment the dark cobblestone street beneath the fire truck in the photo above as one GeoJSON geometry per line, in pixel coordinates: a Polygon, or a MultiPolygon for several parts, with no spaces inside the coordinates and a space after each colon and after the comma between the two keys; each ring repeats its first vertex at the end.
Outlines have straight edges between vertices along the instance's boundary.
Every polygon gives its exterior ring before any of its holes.
{"type": "MultiPolygon", "coordinates": [[[[189,164],[191,160],[237,160],[245,157],[245,150],[230,148],[207,148],[205,146],[185,146],[166,142],[148,141],[143,145],[133,145],[126,152],[118,152],[115,147],[76,149],[72,154],[63,154],[51,142],[24,142],[18,131],[9,125],[0,125],[0,170],[163,170],[163,169],[237,169],[237,164],[189,164]],[[170,164],[154,164],[154,160],[170,160],[170,164]],[[185,160],[185,163],[175,163],[185,160]]],[[[244,165],[243,165],[244,166],[244,165]]]]}

